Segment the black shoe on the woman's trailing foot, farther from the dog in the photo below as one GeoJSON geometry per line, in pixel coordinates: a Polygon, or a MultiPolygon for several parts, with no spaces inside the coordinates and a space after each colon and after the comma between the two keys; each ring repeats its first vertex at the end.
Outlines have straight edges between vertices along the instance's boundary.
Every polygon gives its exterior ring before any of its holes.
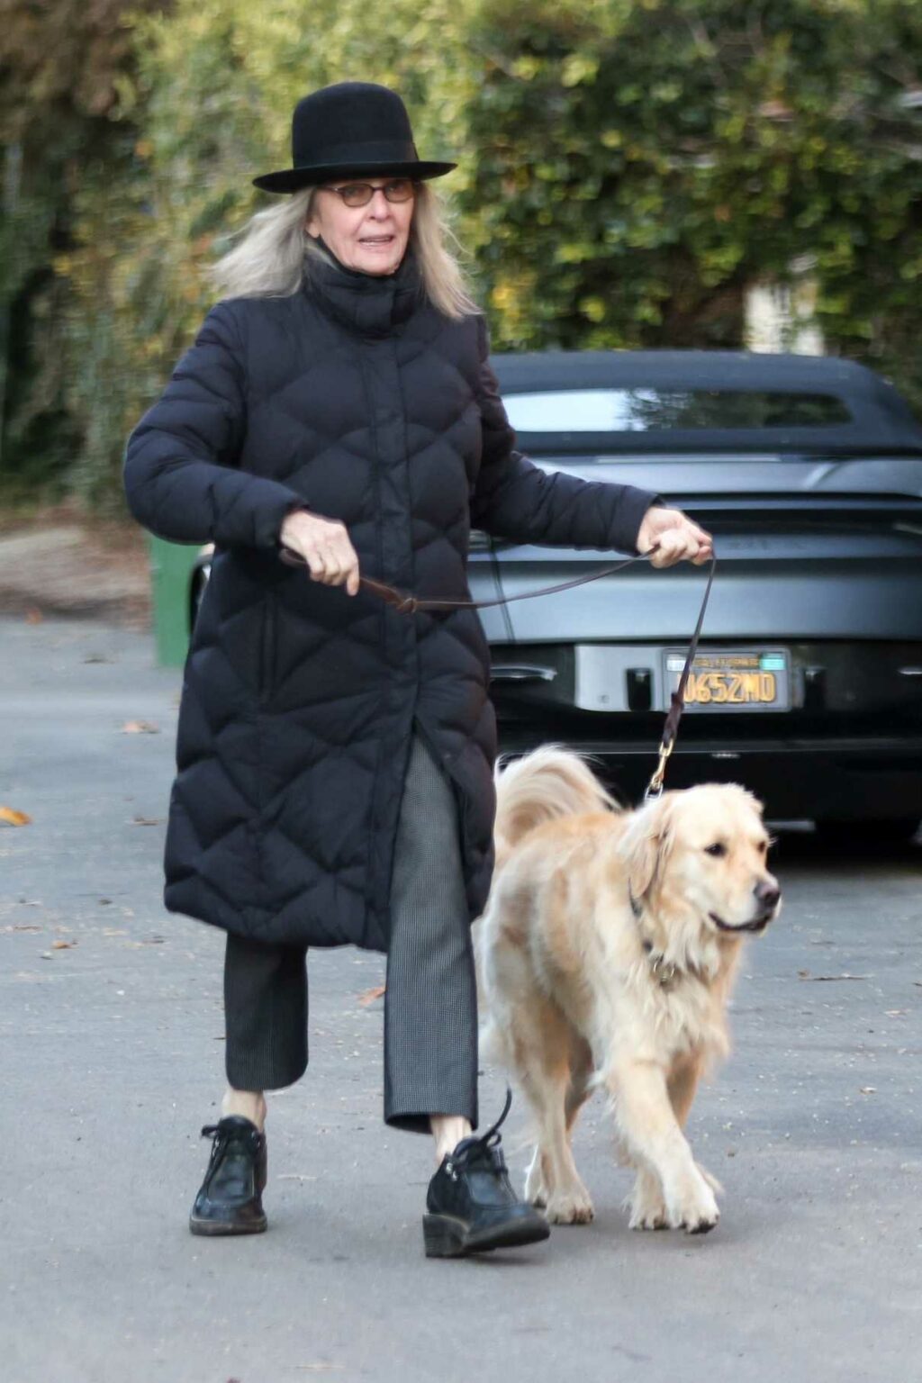
{"type": "Polygon", "coordinates": [[[265,1229],[265,1134],[242,1115],[206,1124],[211,1160],[195,1198],[192,1234],[261,1234],[265,1229]]]}

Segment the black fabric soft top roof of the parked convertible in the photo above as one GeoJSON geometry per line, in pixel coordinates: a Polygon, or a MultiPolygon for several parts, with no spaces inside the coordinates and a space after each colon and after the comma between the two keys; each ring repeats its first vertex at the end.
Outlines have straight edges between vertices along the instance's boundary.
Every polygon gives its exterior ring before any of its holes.
{"type": "Polygon", "coordinates": [[[496,354],[503,394],[560,390],[688,390],[824,394],[850,422],[813,426],[651,427],[632,431],[520,431],[532,452],[798,452],[922,455],[922,426],[893,384],[872,369],[832,355],[753,351],[540,351],[496,354]]]}

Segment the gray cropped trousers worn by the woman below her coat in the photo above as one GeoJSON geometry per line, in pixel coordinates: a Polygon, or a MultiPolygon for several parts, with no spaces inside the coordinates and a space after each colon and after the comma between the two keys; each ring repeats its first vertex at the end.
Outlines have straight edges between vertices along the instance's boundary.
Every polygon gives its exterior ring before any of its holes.
{"type": "MultiPolygon", "coordinates": [[[[228,932],[227,1077],[278,1090],[307,1068],[307,947],[228,932]]],[[[429,1115],[477,1126],[477,990],[458,806],[413,736],[397,827],[384,994],[384,1119],[429,1131],[429,1115]]]]}

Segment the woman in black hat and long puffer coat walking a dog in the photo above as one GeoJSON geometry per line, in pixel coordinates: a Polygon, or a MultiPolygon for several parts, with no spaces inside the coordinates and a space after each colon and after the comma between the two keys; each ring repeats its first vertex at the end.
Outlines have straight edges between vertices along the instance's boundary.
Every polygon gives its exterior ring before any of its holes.
{"type": "MultiPolygon", "coordinates": [[[[227,932],[228,1090],[195,1234],[265,1228],[264,1091],[307,1065],[305,947],[387,952],[384,1117],[435,1137],[429,1254],[547,1236],[498,1124],[476,1137],[469,924],[492,869],[495,715],[471,610],[404,614],[359,588],[470,599],[470,526],[518,542],[704,561],[654,496],[546,476],[514,451],[401,98],[305,97],[293,194],[217,266],[207,314],[131,433],[134,516],[213,541],[185,665],[166,907],[227,932]],[[310,568],[281,559],[290,549],[310,568]]],[[[502,1122],[502,1120],[500,1120],[502,1122]]]]}

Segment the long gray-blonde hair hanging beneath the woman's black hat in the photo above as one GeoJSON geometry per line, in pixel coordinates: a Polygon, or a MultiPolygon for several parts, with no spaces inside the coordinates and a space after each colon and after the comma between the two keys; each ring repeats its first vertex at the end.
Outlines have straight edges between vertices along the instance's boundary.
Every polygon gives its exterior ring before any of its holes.
{"type": "MultiPolygon", "coordinates": [[[[293,192],[283,202],[256,212],[232,234],[239,245],[206,271],[224,297],[290,297],[310,282],[311,260],[325,259],[304,230],[317,188],[293,192]]],[[[458,321],[478,314],[458,263],[460,245],[448,225],[441,201],[427,183],[416,184],[411,245],[430,303],[458,321]]]]}

